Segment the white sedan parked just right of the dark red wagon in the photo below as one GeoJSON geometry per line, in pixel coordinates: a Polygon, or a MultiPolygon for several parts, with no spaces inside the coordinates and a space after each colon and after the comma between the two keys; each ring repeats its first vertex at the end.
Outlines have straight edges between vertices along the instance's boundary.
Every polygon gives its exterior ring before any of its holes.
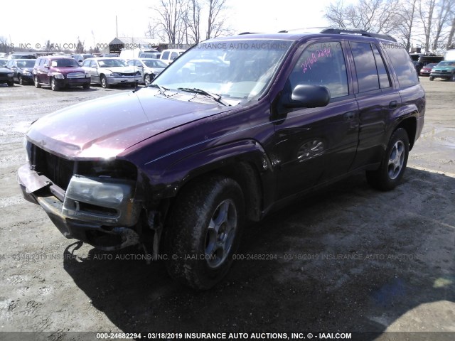
{"type": "Polygon", "coordinates": [[[92,83],[104,88],[119,84],[134,87],[141,81],[141,72],[128,66],[121,58],[88,58],[82,67],[90,73],[92,83]]]}

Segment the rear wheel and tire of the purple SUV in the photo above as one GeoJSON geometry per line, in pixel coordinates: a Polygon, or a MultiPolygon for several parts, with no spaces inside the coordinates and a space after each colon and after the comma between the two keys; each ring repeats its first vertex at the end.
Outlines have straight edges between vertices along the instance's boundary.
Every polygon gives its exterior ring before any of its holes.
{"type": "Polygon", "coordinates": [[[403,128],[394,131],[376,171],[367,171],[368,183],[378,190],[392,190],[402,180],[410,153],[410,142],[403,128]]]}

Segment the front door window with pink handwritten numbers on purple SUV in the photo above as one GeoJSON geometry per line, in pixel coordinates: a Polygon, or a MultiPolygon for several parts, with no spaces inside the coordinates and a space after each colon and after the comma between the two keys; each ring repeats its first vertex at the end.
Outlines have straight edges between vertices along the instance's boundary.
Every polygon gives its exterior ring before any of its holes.
{"type": "Polygon", "coordinates": [[[289,84],[291,91],[296,85],[321,85],[328,88],[331,98],[347,96],[348,75],[341,43],[309,45],[289,75],[289,84]]]}

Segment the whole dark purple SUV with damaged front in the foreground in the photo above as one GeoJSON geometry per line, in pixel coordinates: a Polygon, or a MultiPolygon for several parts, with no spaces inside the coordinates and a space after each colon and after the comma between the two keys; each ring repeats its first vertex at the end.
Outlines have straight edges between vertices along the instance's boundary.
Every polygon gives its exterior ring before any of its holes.
{"type": "Polygon", "coordinates": [[[141,246],[207,289],[230,269],[245,221],[353,173],[399,185],[424,112],[410,56],[390,36],[217,38],[149,87],[35,121],[18,182],[65,237],[141,246]],[[199,62],[220,55],[221,72],[199,62]]]}

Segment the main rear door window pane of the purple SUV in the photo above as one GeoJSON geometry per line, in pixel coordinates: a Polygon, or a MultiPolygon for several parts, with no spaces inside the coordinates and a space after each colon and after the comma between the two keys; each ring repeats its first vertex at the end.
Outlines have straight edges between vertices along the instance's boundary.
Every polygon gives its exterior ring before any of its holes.
{"type": "Polygon", "coordinates": [[[367,92],[379,89],[378,70],[370,43],[350,42],[353,51],[358,91],[367,92]]]}

